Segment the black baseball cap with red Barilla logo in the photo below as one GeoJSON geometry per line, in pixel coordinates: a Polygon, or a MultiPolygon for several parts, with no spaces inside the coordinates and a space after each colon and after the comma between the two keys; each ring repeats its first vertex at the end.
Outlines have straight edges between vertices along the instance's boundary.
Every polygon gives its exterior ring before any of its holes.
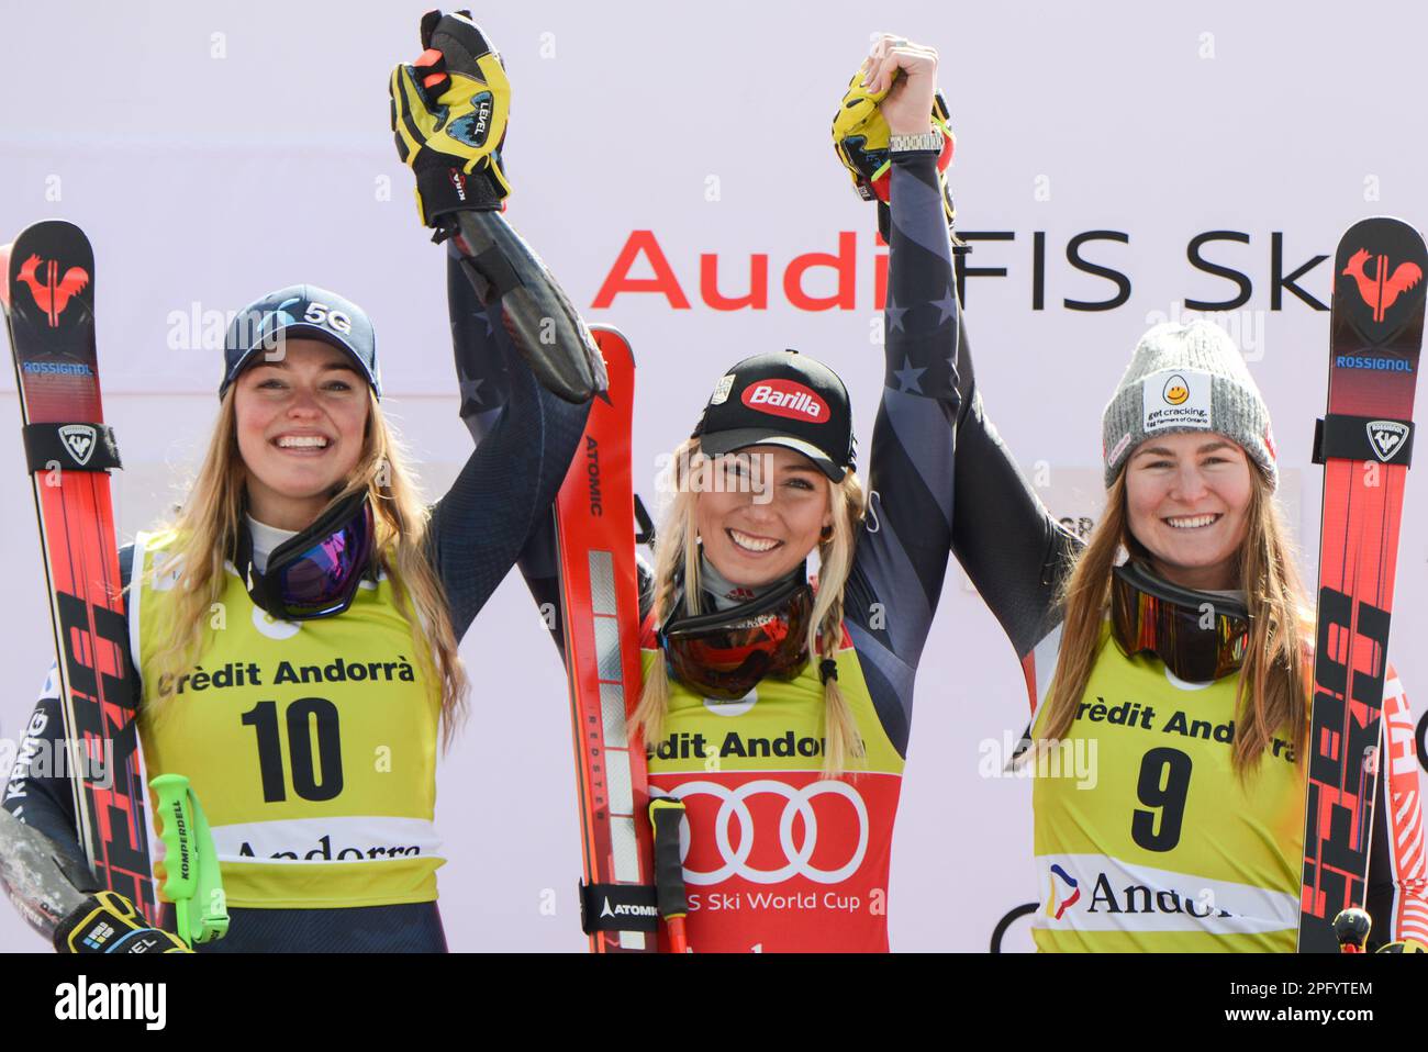
{"type": "Polygon", "coordinates": [[[714,387],[694,437],[711,457],[745,445],[783,445],[834,482],[854,467],[848,388],[821,361],[798,351],[744,358],[714,387]]]}

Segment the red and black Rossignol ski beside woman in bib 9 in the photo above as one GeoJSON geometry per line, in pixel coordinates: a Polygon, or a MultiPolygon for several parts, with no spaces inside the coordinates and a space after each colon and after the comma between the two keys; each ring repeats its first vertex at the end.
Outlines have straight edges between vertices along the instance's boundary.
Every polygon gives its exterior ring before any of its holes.
{"type": "Polygon", "coordinates": [[[1299,952],[1338,949],[1334,918],[1364,906],[1378,791],[1388,621],[1428,251],[1407,223],[1355,223],[1334,256],[1318,638],[1308,738],[1299,952]]]}

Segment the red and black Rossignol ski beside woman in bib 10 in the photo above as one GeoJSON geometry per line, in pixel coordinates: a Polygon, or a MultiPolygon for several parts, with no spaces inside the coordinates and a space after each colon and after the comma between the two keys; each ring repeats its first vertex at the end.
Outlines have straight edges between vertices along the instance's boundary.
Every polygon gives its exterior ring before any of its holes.
{"type": "Polygon", "coordinates": [[[109,492],[119,448],[94,353],[94,251],[79,227],[46,221],[0,248],[0,260],[80,841],[104,886],[157,926],[109,492]]]}

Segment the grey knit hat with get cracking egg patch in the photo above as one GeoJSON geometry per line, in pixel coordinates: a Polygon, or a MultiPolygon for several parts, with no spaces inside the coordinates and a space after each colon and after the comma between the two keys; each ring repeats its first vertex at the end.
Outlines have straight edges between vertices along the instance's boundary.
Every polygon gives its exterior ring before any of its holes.
{"type": "Polygon", "coordinates": [[[1234,440],[1279,484],[1269,410],[1234,340],[1210,321],[1155,325],[1101,417],[1105,488],[1147,438],[1214,431],[1234,440]]]}

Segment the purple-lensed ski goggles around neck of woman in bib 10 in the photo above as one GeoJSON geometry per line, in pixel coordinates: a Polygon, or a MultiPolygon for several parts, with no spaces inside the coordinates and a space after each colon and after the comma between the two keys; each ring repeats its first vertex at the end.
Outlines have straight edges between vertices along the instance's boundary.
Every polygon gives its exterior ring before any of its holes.
{"type": "Polygon", "coordinates": [[[333,505],[317,521],[283,541],[261,574],[253,565],[253,541],[244,531],[243,564],[248,595],[280,621],[311,621],[347,610],[371,562],[376,537],[366,492],[333,505]]]}

